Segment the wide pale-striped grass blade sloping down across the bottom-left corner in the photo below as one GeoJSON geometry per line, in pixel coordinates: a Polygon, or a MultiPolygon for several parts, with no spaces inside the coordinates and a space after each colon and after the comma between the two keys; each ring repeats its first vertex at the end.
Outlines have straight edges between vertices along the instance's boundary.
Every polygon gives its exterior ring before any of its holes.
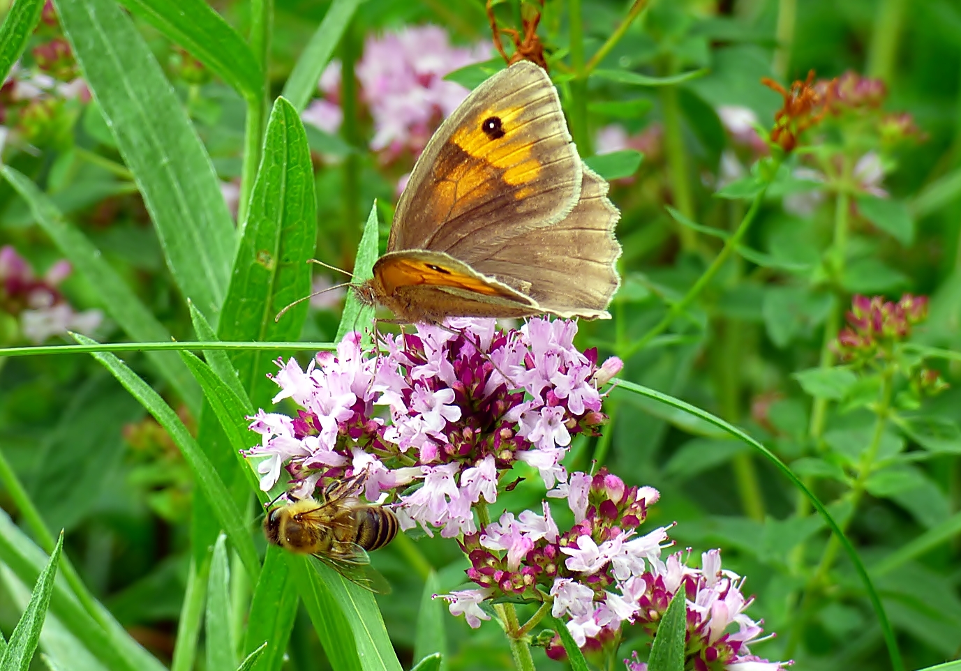
{"type": "MultiPolygon", "coordinates": [[[[43,551],[3,511],[0,511],[0,562],[7,564],[26,584],[35,582],[47,563],[43,551]]],[[[164,671],[165,667],[140,647],[107,609],[100,604],[96,607],[99,612],[94,618],[84,610],[73,592],[59,579],[55,581],[50,612],[104,666],[111,671],[164,671]]]]}

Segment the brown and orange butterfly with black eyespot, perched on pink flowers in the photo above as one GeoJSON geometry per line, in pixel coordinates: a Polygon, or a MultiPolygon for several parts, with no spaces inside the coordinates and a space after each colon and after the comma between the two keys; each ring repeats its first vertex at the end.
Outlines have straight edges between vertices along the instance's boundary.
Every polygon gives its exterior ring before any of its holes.
{"type": "Polygon", "coordinates": [[[607,182],[578,155],[551,79],[522,60],[480,84],[433,134],[357,298],[407,324],[609,319],[619,218],[607,182]]]}

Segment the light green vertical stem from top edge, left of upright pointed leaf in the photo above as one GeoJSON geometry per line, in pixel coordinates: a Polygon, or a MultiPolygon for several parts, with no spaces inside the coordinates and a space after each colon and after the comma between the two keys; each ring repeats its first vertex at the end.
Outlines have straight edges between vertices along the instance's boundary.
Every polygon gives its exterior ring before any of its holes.
{"type": "Polygon", "coordinates": [[[274,0],[251,0],[250,48],[263,72],[259,96],[248,96],[244,121],[243,164],[240,169],[240,197],[237,200],[237,227],[242,234],[247,222],[250,194],[260,164],[260,145],[267,118],[270,92],[270,35],[274,23],[274,0]]]}

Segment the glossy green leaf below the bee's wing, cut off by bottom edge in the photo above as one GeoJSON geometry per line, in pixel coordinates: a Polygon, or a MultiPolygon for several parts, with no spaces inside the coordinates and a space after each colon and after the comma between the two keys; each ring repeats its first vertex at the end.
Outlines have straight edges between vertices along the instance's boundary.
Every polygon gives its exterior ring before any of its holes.
{"type": "Polygon", "coordinates": [[[287,553],[333,671],[400,671],[374,595],[325,563],[287,553]]]}

